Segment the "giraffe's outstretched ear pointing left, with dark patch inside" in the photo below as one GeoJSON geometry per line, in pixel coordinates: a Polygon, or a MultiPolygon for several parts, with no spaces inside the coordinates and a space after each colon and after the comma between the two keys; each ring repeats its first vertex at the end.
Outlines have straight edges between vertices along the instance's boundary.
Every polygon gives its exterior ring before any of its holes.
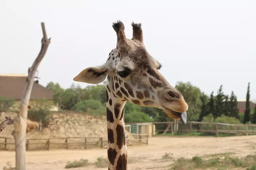
{"type": "Polygon", "coordinates": [[[88,67],[80,72],[74,81],[85,82],[89,84],[99,84],[105,80],[108,75],[108,69],[104,66],[88,67]]]}

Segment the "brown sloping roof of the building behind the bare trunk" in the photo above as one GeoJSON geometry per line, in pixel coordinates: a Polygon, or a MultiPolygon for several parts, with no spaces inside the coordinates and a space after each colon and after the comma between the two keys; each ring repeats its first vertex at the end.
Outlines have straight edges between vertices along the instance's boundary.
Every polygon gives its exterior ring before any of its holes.
{"type": "MultiPolygon", "coordinates": [[[[25,88],[27,75],[0,74],[0,97],[11,97],[20,100],[25,88]]],[[[54,92],[34,82],[30,100],[53,100],[54,92]]]]}

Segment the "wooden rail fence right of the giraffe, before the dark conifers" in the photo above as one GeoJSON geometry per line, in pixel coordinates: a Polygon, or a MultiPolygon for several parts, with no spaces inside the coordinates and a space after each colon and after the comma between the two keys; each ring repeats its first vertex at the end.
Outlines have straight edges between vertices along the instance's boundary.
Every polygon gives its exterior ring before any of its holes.
{"type": "MultiPolygon", "coordinates": [[[[125,123],[139,124],[139,123],[125,123]]],[[[152,122],[152,136],[241,136],[256,135],[256,124],[227,124],[188,121],[186,125],[177,122],[152,122]]]]}

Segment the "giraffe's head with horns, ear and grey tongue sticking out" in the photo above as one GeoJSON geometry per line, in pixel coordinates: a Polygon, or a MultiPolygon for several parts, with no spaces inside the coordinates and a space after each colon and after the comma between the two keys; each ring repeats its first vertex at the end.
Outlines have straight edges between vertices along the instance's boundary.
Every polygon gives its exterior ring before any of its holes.
{"type": "Polygon", "coordinates": [[[132,39],[125,37],[121,21],[113,23],[113,28],[117,34],[116,49],[103,65],[84,69],[74,81],[99,84],[108,76],[106,88],[117,101],[160,108],[186,124],[188,104],[158,71],[161,64],[147,52],[141,24],[132,22],[132,39]]]}

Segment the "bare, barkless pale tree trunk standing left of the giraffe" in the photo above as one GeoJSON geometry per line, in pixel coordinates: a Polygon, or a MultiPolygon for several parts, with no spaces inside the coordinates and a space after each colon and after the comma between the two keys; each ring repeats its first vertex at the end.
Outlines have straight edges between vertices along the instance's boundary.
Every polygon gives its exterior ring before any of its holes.
{"type": "Polygon", "coordinates": [[[34,83],[35,73],[37,68],[44,58],[44,55],[50,44],[50,39],[47,38],[45,25],[41,23],[43,38],[41,50],[35,59],[33,65],[28,70],[28,76],[26,79],[25,89],[19,103],[19,115],[16,117],[17,123],[14,124],[14,131],[12,135],[15,139],[15,160],[16,160],[16,170],[26,170],[26,127],[27,127],[27,107],[29,105],[30,95],[34,83]]]}

